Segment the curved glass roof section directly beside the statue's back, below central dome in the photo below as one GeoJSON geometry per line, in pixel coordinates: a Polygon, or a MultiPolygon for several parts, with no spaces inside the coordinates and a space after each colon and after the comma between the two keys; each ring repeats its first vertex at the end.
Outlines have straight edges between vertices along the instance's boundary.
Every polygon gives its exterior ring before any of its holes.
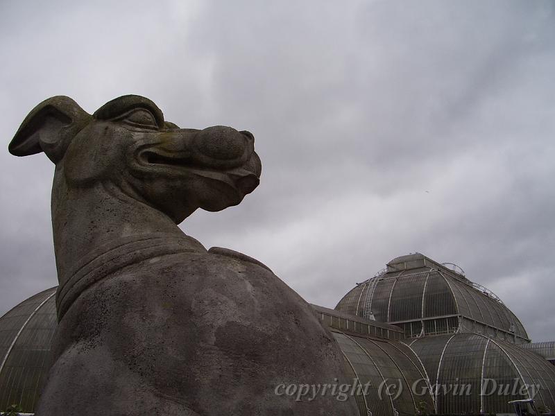
{"type": "Polygon", "coordinates": [[[411,347],[398,341],[400,328],[312,307],[339,344],[351,384],[367,386],[364,394],[354,395],[361,416],[414,415],[420,406],[434,413],[428,374],[411,347]],[[418,394],[414,386],[425,394],[418,394]]]}

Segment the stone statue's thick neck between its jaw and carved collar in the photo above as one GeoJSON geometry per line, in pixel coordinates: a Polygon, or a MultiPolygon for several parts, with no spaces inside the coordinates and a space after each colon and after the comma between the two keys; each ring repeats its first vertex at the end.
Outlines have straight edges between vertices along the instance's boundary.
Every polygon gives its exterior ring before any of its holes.
{"type": "Polygon", "coordinates": [[[64,180],[55,180],[52,225],[60,286],[76,270],[115,248],[122,254],[126,247],[135,250],[129,245],[134,241],[142,241],[144,247],[149,240],[159,245],[165,239],[185,246],[190,243],[191,250],[203,249],[169,216],[111,182],[69,189],[64,180]]]}

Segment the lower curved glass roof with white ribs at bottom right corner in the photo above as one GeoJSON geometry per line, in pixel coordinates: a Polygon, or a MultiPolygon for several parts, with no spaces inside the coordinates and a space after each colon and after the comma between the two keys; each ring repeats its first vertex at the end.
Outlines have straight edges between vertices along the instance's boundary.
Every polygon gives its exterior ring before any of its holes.
{"type": "Polygon", "coordinates": [[[555,367],[518,345],[474,333],[423,337],[409,345],[430,384],[440,386],[434,395],[439,414],[514,413],[508,402],[529,398],[555,409],[555,367]]]}

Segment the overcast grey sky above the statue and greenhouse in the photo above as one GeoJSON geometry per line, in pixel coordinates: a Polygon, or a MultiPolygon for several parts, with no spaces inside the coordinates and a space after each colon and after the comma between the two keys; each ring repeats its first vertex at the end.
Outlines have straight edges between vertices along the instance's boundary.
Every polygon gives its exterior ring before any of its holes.
{"type": "Polygon", "coordinates": [[[334,307],[393,257],[458,263],[555,340],[554,1],[0,1],[0,315],[57,284],[53,165],[8,143],[55,95],[140,94],[256,137],[259,188],[182,229],[334,307]]]}

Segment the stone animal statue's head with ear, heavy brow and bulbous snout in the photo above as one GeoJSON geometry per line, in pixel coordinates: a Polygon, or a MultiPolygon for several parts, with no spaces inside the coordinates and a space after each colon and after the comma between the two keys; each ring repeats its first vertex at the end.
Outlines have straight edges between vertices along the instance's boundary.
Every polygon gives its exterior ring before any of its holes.
{"type": "Polygon", "coordinates": [[[197,208],[237,205],[257,187],[254,141],[250,132],[221,125],[179,128],[142,96],[121,96],[92,115],[55,96],[28,114],[9,150],[44,152],[69,189],[111,182],[180,223],[197,208]]]}

